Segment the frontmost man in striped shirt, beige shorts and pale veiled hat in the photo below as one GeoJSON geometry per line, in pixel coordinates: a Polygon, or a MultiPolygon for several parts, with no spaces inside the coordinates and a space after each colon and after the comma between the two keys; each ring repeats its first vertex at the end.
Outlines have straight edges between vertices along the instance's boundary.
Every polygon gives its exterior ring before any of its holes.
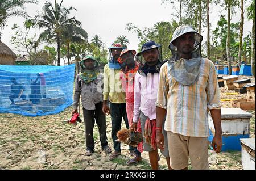
{"type": "Polygon", "coordinates": [[[168,144],[172,169],[187,169],[188,157],[193,169],[209,169],[207,113],[210,111],[215,136],[212,147],[221,150],[221,103],[217,73],[212,61],[200,56],[203,37],[191,26],[177,27],[169,48],[170,60],[160,69],[156,126],[163,123],[167,140],[156,132],[160,149],[168,144]]]}

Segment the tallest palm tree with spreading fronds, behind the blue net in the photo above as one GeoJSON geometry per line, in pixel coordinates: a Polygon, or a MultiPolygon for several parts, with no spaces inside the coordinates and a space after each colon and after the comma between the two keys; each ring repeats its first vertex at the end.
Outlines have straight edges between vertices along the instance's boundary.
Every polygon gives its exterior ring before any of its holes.
{"type": "MultiPolygon", "coordinates": [[[[43,11],[35,16],[34,23],[39,28],[46,28],[40,36],[39,40],[45,40],[49,42],[57,41],[57,62],[60,66],[60,47],[61,47],[61,33],[68,25],[81,26],[81,22],[73,18],[68,18],[68,14],[74,8],[71,6],[68,9],[61,7],[63,0],[58,4],[55,0],[55,5],[51,2],[46,2],[43,7],[43,11]]],[[[76,10],[76,9],[74,9],[76,10]]]]}

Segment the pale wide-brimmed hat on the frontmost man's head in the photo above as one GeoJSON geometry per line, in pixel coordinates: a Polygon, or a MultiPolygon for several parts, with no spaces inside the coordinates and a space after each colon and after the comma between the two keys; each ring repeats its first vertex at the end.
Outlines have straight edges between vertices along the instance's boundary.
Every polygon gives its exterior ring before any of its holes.
{"type": "Polygon", "coordinates": [[[192,26],[188,25],[188,24],[183,24],[179,27],[176,28],[176,30],[174,31],[174,35],[172,35],[172,40],[170,41],[169,44],[169,49],[172,51],[172,53],[177,52],[177,48],[176,46],[174,46],[174,40],[176,40],[178,37],[184,35],[185,33],[194,33],[195,35],[195,44],[194,44],[194,48],[197,47],[199,44],[201,44],[202,40],[203,40],[203,36],[200,35],[196,30],[193,29],[192,26]]]}

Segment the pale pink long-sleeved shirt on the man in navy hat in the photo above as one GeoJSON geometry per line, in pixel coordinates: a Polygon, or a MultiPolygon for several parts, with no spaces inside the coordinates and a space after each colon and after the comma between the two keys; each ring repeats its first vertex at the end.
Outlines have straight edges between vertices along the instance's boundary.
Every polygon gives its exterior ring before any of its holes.
{"type": "Polygon", "coordinates": [[[133,122],[137,123],[141,111],[150,120],[156,119],[156,98],[158,94],[159,73],[135,75],[133,122]]]}

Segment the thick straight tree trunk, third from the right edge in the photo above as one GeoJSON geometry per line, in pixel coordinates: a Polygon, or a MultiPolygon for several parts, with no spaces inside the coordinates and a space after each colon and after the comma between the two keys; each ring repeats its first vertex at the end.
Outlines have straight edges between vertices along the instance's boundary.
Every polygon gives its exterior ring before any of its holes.
{"type": "Polygon", "coordinates": [[[232,67],[231,67],[231,56],[230,56],[230,11],[231,11],[231,0],[228,0],[228,33],[226,37],[226,58],[228,60],[228,70],[229,75],[232,73],[232,67]]]}

